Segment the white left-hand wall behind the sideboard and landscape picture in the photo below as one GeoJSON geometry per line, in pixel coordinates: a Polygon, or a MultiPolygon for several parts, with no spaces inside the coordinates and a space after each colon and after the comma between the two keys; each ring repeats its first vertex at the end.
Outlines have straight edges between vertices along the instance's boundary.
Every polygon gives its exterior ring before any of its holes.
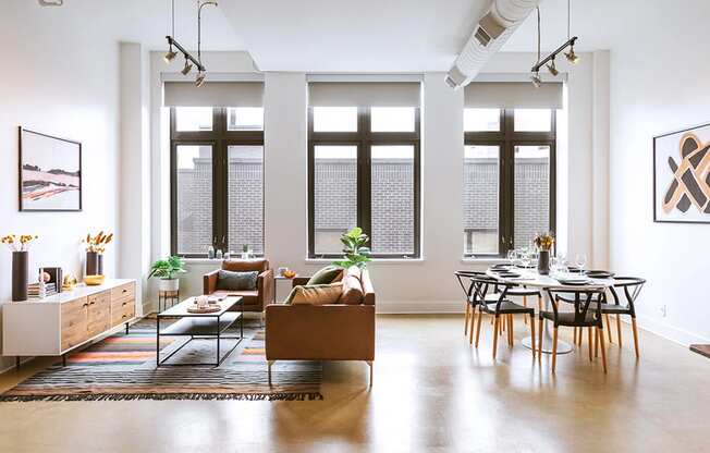
{"type": "MultiPolygon", "coordinates": [[[[96,26],[57,21],[36,2],[3,3],[0,41],[7,63],[0,82],[0,233],[34,233],[30,271],[61,266],[81,274],[81,237],[118,231],[119,45],[96,26]],[[82,212],[17,211],[17,126],[83,143],[82,212]]],[[[121,236],[106,270],[117,270],[121,236]]],[[[0,252],[0,302],[11,293],[10,253],[0,252]]],[[[32,334],[28,332],[27,334],[32,334]]],[[[0,369],[11,365],[0,359],[0,369]]]]}

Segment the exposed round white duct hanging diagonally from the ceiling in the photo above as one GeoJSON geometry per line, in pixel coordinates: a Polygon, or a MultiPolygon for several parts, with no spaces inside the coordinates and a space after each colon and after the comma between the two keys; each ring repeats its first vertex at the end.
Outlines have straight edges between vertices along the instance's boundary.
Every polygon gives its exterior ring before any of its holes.
{"type": "Polygon", "coordinates": [[[466,86],[541,0],[493,0],[446,75],[452,88],[466,86]]]}

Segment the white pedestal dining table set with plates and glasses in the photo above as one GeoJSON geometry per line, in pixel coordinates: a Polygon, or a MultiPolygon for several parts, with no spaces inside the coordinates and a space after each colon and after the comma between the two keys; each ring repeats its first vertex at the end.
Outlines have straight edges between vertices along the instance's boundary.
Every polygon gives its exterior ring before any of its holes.
{"type": "MultiPolygon", "coordinates": [[[[571,278],[571,277],[579,277],[578,273],[553,273],[551,272],[549,276],[542,276],[538,273],[537,269],[525,269],[525,268],[517,268],[517,267],[511,267],[511,271],[515,273],[519,273],[521,277],[514,277],[514,278],[502,278],[499,277],[495,272],[493,272],[493,269],[488,269],[486,271],[486,274],[489,277],[492,277],[501,282],[504,283],[515,283],[521,286],[526,286],[526,287],[537,287],[540,290],[542,293],[542,298],[544,301],[544,306],[546,309],[549,311],[552,311],[552,301],[550,301],[550,294],[548,293],[547,290],[554,290],[554,291],[564,291],[564,290],[602,290],[602,289],[608,289],[610,286],[614,285],[614,279],[589,279],[589,283],[587,284],[575,284],[575,285],[565,285],[560,283],[555,279],[558,278],[571,278]]],[[[546,320],[547,321],[547,320],[546,320]]],[[[552,354],[552,335],[550,335],[550,330],[548,329],[548,322],[542,323],[542,348],[541,351],[546,354],[552,354]]],[[[537,339],[536,339],[537,340],[537,339]]],[[[527,336],[523,339],[523,345],[527,347],[528,350],[532,348],[532,338],[527,336]]],[[[568,354],[574,350],[574,345],[565,342],[558,340],[558,354],[568,354]]]]}

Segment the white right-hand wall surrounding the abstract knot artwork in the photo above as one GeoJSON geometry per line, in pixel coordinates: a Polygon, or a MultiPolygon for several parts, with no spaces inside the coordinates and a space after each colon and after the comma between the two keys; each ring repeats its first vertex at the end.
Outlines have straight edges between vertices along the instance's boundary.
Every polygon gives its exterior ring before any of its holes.
{"type": "MultiPolygon", "coordinates": [[[[633,17],[638,3],[617,2],[617,14],[633,17]]],[[[638,304],[642,327],[684,344],[708,343],[710,225],[653,223],[651,140],[710,122],[710,2],[642,3],[642,20],[611,52],[611,264],[648,279],[638,304]]]]}

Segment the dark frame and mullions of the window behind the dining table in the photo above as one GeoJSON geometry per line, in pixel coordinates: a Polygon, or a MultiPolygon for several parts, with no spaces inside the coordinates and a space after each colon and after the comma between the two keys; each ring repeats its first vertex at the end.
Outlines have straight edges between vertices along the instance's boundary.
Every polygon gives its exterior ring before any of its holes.
{"type": "Polygon", "coordinates": [[[515,237],[515,146],[550,147],[550,230],[556,230],[556,110],[551,109],[550,131],[515,132],[515,110],[500,109],[501,130],[495,132],[464,132],[465,146],[499,147],[499,186],[498,186],[498,254],[467,253],[465,258],[505,257],[514,247],[515,237]]]}

